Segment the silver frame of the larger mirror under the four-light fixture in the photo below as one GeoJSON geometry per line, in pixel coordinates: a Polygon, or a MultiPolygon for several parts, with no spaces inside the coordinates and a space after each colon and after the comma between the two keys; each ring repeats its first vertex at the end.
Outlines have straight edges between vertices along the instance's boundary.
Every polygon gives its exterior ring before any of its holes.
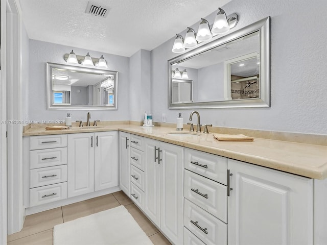
{"type": "MultiPolygon", "coordinates": [[[[229,33],[221,38],[205,43],[199,47],[168,60],[168,109],[198,109],[198,108],[246,108],[270,107],[270,16],[256,21],[240,30],[229,33]],[[191,58],[211,50],[219,45],[259,31],[260,34],[260,97],[254,99],[238,99],[212,102],[172,103],[172,64],[191,58]]],[[[224,83],[224,81],[221,81],[224,83]]]]}

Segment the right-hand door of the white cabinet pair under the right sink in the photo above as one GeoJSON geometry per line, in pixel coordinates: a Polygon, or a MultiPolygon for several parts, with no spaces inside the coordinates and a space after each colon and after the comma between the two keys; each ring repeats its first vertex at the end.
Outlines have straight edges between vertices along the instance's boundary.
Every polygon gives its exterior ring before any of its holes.
{"type": "Polygon", "coordinates": [[[160,142],[160,229],[175,244],[183,244],[184,149],[160,142]]]}

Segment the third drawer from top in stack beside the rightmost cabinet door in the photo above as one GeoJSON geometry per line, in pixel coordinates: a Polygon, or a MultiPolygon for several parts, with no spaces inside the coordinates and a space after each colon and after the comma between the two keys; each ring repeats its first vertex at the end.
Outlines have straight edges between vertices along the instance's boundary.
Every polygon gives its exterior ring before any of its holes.
{"type": "Polygon", "coordinates": [[[184,226],[207,245],[227,244],[227,225],[187,199],[184,226]]]}

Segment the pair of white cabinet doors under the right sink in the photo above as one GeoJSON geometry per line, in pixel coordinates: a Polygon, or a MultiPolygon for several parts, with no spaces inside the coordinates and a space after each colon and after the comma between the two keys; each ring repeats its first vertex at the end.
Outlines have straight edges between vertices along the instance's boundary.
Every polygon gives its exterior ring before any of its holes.
{"type": "Polygon", "coordinates": [[[181,146],[144,139],[144,212],[174,243],[183,243],[183,154],[181,146]]]}

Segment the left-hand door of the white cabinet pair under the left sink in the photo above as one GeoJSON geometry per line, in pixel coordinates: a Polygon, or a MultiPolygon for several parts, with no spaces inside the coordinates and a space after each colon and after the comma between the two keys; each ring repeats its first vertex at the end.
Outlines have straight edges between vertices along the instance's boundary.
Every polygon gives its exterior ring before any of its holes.
{"type": "Polygon", "coordinates": [[[68,198],[94,191],[94,133],[68,134],[68,198]]]}

